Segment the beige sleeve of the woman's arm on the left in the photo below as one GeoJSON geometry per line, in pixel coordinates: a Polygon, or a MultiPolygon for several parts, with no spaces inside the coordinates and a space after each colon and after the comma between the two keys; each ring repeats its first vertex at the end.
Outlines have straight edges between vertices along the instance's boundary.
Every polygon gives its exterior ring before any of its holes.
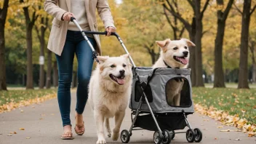
{"type": "MultiPolygon", "coordinates": [[[[61,0],[63,1],[63,0],[61,0]]],[[[62,17],[65,14],[65,10],[57,6],[58,0],[45,0],[44,1],[44,10],[53,17],[56,17],[57,20],[63,20],[62,17]]]]}

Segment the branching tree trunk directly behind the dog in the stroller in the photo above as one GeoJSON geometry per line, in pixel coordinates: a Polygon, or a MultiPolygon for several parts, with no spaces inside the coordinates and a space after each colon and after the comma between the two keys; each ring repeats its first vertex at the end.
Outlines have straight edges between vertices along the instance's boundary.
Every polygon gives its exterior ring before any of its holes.
{"type": "Polygon", "coordinates": [[[187,0],[188,4],[190,4],[193,9],[191,23],[189,23],[188,20],[185,20],[178,11],[177,1],[173,0],[172,3],[169,0],[166,1],[167,3],[162,4],[164,9],[167,9],[174,17],[177,17],[177,19],[185,25],[185,29],[188,31],[191,41],[196,44],[196,49],[193,47],[190,48],[190,67],[193,70],[191,80],[192,86],[203,87],[204,81],[202,79],[203,66],[201,56],[201,37],[203,36],[202,18],[204,17],[204,12],[207,9],[209,0],[204,3],[204,7],[202,9],[201,0],[187,0]]]}

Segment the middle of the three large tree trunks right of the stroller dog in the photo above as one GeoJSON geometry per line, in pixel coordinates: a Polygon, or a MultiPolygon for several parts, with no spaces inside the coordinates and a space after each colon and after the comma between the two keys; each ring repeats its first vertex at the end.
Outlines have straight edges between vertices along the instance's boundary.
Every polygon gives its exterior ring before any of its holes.
{"type": "Polygon", "coordinates": [[[225,33],[225,21],[232,7],[233,0],[228,1],[228,6],[223,12],[223,0],[217,0],[217,35],[215,38],[215,80],[213,87],[225,87],[223,73],[223,37],[225,33]]]}

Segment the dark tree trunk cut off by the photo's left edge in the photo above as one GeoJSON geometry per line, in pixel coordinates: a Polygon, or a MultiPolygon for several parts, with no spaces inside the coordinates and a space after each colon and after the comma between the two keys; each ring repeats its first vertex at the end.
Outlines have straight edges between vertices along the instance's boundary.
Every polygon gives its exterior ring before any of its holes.
{"type": "MultiPolygon", "coordinates": [[[[1,3],[1,2],[0,2],[1,3]]],[[[0,90],[7,90],[6,83],[6,65],[5,65],[5,40],[4,40],[4,25],[7,18],[7,10],[9,0],[4,0],[3,7],[0,7],[0,90]]]]}

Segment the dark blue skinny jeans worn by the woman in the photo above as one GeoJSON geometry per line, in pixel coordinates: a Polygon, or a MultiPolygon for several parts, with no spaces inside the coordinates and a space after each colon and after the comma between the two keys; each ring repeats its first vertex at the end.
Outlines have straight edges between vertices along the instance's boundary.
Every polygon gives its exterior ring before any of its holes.
{"type": "MultiPolygon", "coordinates": [[[[96,46],[96,41],[89,38],[92,46],[96,46]]],[[[88,84],[92,73],[92,50],[80,31],[68,31],[65,45],[61,56],[56,55],[59,87],[57,89],[57,100],[60,114],[63,120],[63,127],[71,125],[71,81],[73,73],[73,57],[76,54],[78,60],[78,87],[76,92],[76,112],[81,114],[87,103],[88,84]]]]}

